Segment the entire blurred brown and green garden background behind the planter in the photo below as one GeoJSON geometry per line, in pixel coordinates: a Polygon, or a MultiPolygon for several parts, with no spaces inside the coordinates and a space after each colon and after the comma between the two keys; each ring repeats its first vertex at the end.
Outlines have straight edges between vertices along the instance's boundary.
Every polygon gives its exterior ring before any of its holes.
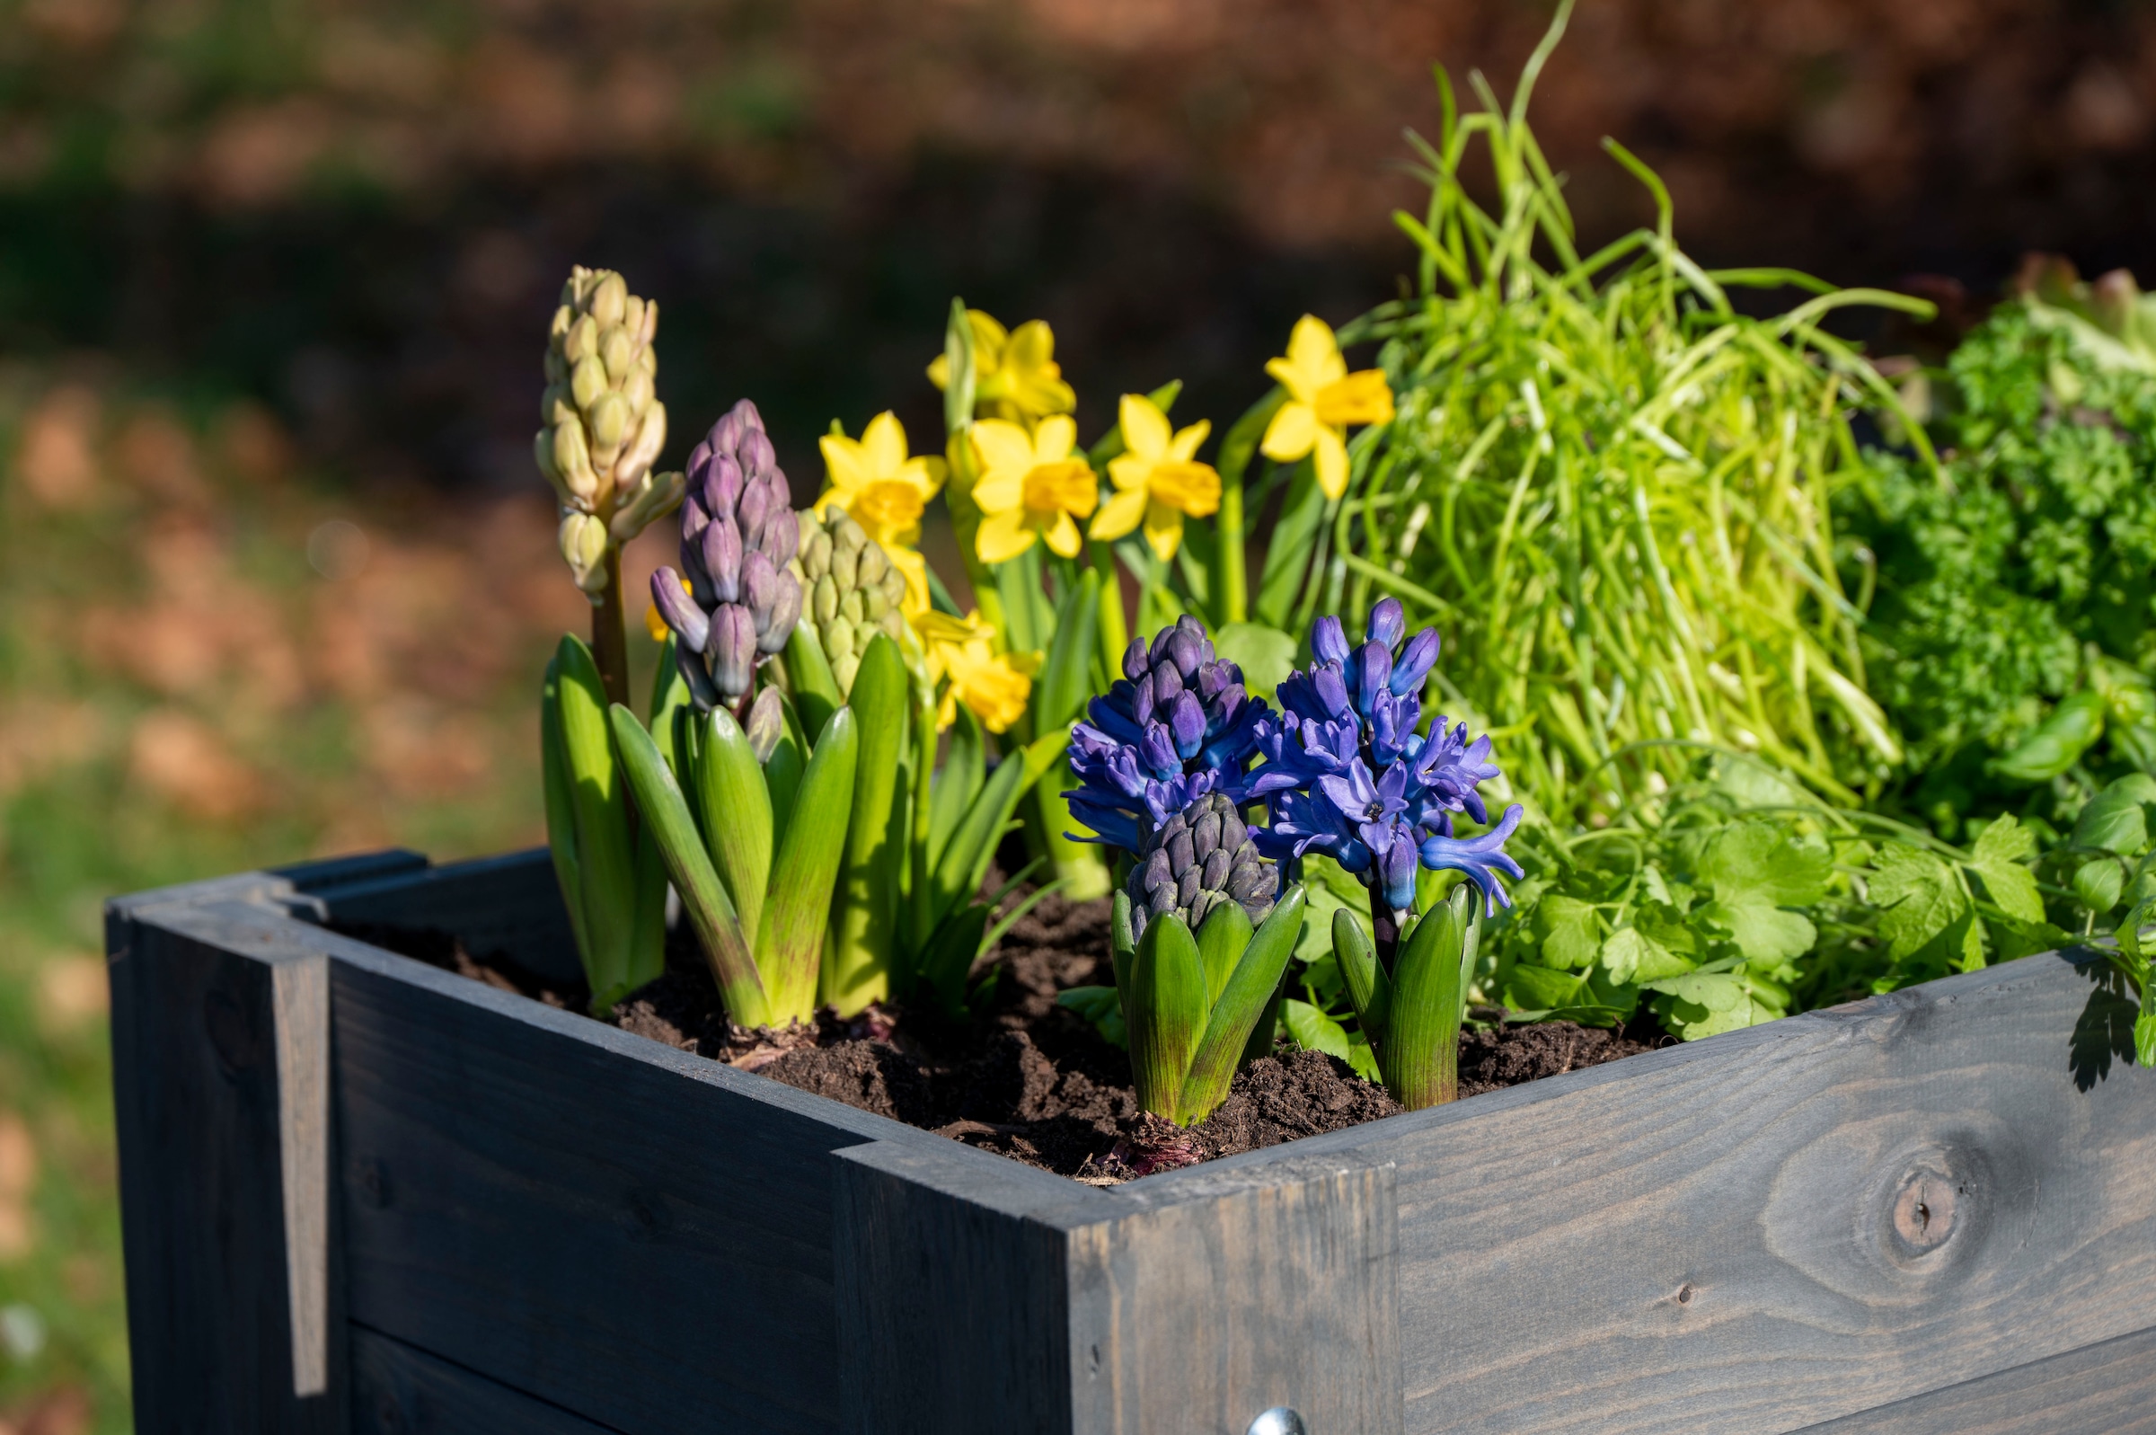
{"type": "MultiPolygon", "coordinates": [[[[746,393],[798,501],[830,419],[936,432],[953,293],[1052,322],[1087,434],[1222,421],[1412,270],[1429,65],[1548,13],[0,0],[0,1435],[129,1429],[101,900],[543,835],[571,263],[662,304],[664,464],[746,393]]],[[[1651,216],[1613,134],[1701,259],[1949,326],[2024,250],[2156,270],[2156,4],[1583,0],[1535,129],[1591,240],[1651,216]]]]}

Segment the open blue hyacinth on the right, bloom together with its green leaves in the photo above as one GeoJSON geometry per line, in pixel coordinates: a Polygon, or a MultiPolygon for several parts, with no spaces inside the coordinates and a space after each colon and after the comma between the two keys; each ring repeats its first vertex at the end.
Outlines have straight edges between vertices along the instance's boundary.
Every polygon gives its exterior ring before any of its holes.
{"type": "Polygon", "coordinates": [[[1272,826],[1257,844],[1281,861],[1324,852],[1369,891],[1369,930],[1352,913],[1332,917],[1332,952],[1356,1021],[1393,1096],[1414,1109],[1457,1092],[1460,1021],[1483,917],[1511,906],[1501,878],[1520,863],[1505,842],[1520,807],[1479,837],[1460,837],[1457,814],[1488,822],[1479,783],[1498,777],[1490,738],[1442,716],[1421,727],[1421,688],[1438,660],[1438,634],[1408,634],[1399,600],[1369,615],[1350,645],[1337,617],[1317,619],[1311,667],[1279,686],[1281,712],[1261,721],[1266,764],[1248,781],[1272,826]],[[1419,921],[1416,876],[1466,880],[1419,921]]]}

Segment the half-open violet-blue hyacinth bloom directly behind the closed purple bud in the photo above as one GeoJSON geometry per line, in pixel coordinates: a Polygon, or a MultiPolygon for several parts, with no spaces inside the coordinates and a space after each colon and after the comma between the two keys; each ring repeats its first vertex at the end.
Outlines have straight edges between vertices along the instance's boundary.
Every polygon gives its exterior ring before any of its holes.
{"type": "Polygon", "coordinates": [[[1220,792],[1248,801],[1246,773],[1266,712],[1244,688],[1242,669],[1214,656],[1199,619],[1177,619],[1151,645],[1132,639],[1123,678],[1072,727],[1072,773],[1084,785],[1063,796],[1095,833],[1080,842],[1145,857],[1153,831],[1194,798],[1220,792]]]}

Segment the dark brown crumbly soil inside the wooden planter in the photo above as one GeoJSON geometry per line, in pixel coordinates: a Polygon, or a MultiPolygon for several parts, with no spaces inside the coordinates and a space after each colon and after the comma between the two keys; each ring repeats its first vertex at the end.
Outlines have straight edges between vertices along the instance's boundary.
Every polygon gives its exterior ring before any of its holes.
{"type": "MultiPolygon", "coordinates": [[[[584,988],[537,980],[509,954],[470,954],[442,932],[343,928],[448,971],[582,1012],[584,988]]],[[[610,1021],[668,1047],[755,1070],[849,1107],[994,1150],[1095,1185],[1279,1146],[1393,1116],[1399,1105],[1345,1062],[1283,1049],[1235,1075],[1227,1103],[1192,1129],[1138,1109],[1128,1055],[1056,1006],[1072,986],[1108,986],[1108,902],[1048,896],[992,956],[996,982],[970,1025],[934,1012],[826,1012],[811,1031],[746,1031],[727,1021],[718,986],[686,926],[666,949],[666,975],[614,1008],[610,1021]]],[[[1647,1051],[1658,1029],[1604,1031],[1570,1021],[1464,1031],[1460,1094],[1554,1077],[1647,1051]]]]}

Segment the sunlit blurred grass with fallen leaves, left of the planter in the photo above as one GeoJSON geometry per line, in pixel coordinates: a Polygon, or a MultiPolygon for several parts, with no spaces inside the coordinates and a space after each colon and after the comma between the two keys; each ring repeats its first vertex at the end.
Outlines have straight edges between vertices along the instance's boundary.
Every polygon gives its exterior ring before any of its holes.
{"type": "Polygon", "coordinates": [[[537,479],[354,494],[246,404],[0,371],[0,1431],[132,1424],[103,900],[539,842],[582,621],[537,479]]]}

